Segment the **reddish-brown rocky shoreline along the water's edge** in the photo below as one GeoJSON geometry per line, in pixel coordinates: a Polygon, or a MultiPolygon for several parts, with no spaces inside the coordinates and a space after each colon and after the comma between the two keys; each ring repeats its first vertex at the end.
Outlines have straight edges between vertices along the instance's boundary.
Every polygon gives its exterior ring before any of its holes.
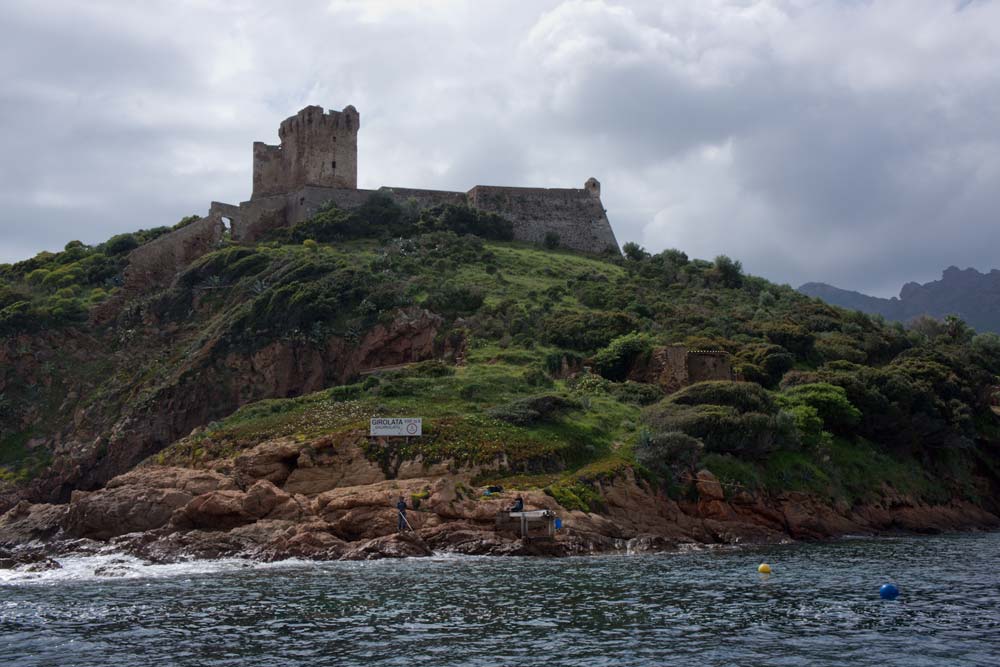
{"type": "Polygon", "coordinates": [[[0,516],[0,568],[58,567],[53,557],[74,553],[122,553],[155,563],[435,552],[571,556],[1000,527],[1000,518],[971,503],[926,505],[888,487],[878,503],[832,506],[798,493],[727,494],[702,470],[691,499],[673,500],[625,470],[596,483],[600,513],[567,510],[540,490],[519,492],[529,509],[552,510],[564,526],[552,541],[524,541],[494,529],[496,513],[515,494],[484,496],[471,487],[471,473],[413,466],[402,472],[425,476],[385,479],[363,457],[353,457],[296,477],[285,462],[300,450],[279,441],[216,469],[144,465],[97,491],[74,491],[65,504],[22,501],[0,516]],[[415,505],[408,512],[412,533],[396,532],[399,496],[415,505]]]}

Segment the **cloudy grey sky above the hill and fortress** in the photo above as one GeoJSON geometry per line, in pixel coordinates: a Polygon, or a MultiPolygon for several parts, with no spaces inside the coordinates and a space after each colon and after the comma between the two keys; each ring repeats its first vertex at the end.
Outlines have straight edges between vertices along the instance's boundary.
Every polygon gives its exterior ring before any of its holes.
{"type": "Polygon", "coordinates": [[[250,194],[361,112],[359,186],[582,187],[620,242],[881,296],[1000,268],[1000,3],[0,3],[0,261],[250,194]],[[290,9],[295,7],[295,9],[290,9]]]}

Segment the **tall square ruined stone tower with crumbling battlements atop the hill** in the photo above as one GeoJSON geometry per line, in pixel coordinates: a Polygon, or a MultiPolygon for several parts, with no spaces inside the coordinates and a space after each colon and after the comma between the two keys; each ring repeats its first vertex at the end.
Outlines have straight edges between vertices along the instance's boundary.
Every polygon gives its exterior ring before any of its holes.
{"type": "Polygon", "coordinates": [[[361,116],[353,106],[323,112],[308,106],[286,118],[278,128],[280,146],[253,144],[251,199],[286,194],[306,185],[358,187],[358,128],[361,116]]]}

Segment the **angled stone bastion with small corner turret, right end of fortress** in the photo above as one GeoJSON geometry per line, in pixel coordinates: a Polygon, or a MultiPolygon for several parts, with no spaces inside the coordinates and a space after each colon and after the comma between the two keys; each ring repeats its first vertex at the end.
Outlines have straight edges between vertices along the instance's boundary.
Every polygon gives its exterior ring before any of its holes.
{"type": "Polygon", "coordinates": [[[468,197],[471,206],[511,220],[519,241],[542,243],[553,232],[565,248],[594,253],[618,249],[595,179],[582,189],[477,185],[468,197]]]}

